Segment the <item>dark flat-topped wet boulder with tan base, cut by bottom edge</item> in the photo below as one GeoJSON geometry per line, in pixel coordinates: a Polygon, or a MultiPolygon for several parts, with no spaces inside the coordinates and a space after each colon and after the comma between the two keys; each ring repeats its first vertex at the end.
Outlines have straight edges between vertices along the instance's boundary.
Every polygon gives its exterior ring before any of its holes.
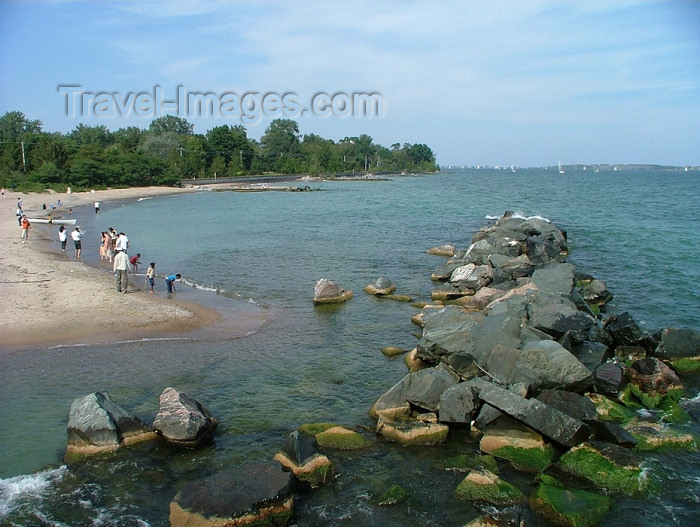
{"type": "Polygon", "coordinates": [[[186,485],[170,503],[171,527],[289,524],[294,476],[276,461],[257,462],[186,485]]]}

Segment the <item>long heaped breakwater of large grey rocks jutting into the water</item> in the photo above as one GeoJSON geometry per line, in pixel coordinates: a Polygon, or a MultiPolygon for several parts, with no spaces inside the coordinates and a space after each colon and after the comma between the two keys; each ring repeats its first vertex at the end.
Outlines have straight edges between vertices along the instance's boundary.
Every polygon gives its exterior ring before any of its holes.
{"type": "Polygon", "coordinates": [[[564,231],[506,213],[466,250],[429,252],[449,260],[413,319],[422,335],[409,373],[370,410],[377,433],[435,445],[466,430],[486,457],[532,474],[527,496],[478,463],[457,499],[494,524],[593,526],[615,496],[653,491],[647,451],[697,449],[682,428],[697,418],[695,394],[680,376],[698,369],[700,334],[605,317],[612,294],[566,261],[564,231]]]}

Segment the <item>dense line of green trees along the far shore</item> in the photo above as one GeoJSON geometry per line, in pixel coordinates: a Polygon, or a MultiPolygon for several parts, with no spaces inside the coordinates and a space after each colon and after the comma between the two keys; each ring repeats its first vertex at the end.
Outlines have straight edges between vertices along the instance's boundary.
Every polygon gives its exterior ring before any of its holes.
{"type": "Polygon", "coordinates": [[[15,190],[75,190],[176,185],[185,179],[259,174],[434,172],[425,144],[377,145],[366,134],[340,141],[302,135],[296,121],[276,119],[260,141],[242,125],[221,125],[195,134],[173,115],[148,129],[110,131],[79,124],[67,134],[42,131],[22,112],[0,117],[0,184],[15,190]]]}

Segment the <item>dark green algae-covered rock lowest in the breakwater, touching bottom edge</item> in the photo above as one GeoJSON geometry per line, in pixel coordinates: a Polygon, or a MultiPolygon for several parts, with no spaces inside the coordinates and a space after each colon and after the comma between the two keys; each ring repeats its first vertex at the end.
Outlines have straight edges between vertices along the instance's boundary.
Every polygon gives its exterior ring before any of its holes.
{"type": "Polygon", "coordinates": [[[553,525],[594,527],[613,505],[609,496],[566,488],[557,479],[541,474],[530,495],[530,508],[553,525]]]}

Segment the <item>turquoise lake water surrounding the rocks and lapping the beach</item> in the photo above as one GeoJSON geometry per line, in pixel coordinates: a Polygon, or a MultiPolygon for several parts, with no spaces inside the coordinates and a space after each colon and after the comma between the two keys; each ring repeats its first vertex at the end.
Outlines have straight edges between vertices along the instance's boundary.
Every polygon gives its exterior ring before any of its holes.
{"type": "MultiPolygon", "coordinates": [[[[506,210],[541,215],[565,229],[569,261],[615,293],[610,311],[629,311],[649,330],[700,330],[700,178],[692,173],[480,170],[310,185],[321,191],[200,192],[107,202],[100,215],[90,207],[77,211],[88,261],[98,263],[99,232],[113,226],[128,234],[130,253],[140,252],[146,265],[156,261],[159,274],[183,275],[178,298],[226,316],[261,313],[266,322],[235,339],[0,355],[0,524],[167,525],[168,503],[185,483],[271,458],[303,423],[333,421],[374,438],[367,411],[406,373],[400,358],[387,359],[380,349],[410,349],[420,329],[410,321],[417,312],[411,304],[378,300],[363,287],[386,276],[397,293],[428,300],[430,273],[444,259],[426,250],[445,243],[466,248],[488,218],[506,210]],[[314,307],[314,284],[324,277],[355,297],[314,307]],[[212,447],[180,452],[143,445],[62,467],[73,399],[105,390],[152,421],[167,386],[190,393],[217,417],[212,447]]],[[[157,288],[164,295],[162,279],[157,288]]],[[[699,431],[697,423],[691,430],[699,431]]],[[[452,498],[463,475],[436,464],[476,450],[454,434],[437,448],[376,440],[367,451],[332,452],[337,478],[298,495],[295,525],[464,525],[478,512],[452,498]],[[412,500],[376,505],[394,483],[412,500]]],[[[645,503],[618,501],[605,527],[695,524],[700,456],[670,453],[649,464],[663,474],[662,493],[645,503]]],[[[505,465],[501,470],[527,489],[529,478],[505,465]]]]}

